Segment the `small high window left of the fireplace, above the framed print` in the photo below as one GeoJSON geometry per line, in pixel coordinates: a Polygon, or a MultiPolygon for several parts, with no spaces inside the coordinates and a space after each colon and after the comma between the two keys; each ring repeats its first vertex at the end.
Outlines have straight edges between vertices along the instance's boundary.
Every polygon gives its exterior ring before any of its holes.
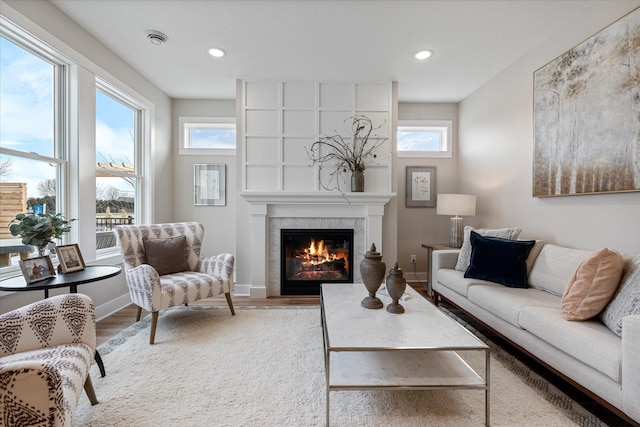
{"type": "Polygon", "coordinates": [[[180,117],[180,154],[236,154],[233,117],[180,117]]]}

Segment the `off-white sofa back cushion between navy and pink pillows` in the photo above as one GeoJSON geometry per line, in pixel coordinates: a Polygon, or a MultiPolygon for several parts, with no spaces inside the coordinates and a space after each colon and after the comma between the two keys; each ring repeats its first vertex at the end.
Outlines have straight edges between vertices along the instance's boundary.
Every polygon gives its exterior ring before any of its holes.
{"type": "Polygon", "coordinates": [[[592,253],[545,244],[529,273],[529,286],[561,297],[573,273],[592,253]]]}

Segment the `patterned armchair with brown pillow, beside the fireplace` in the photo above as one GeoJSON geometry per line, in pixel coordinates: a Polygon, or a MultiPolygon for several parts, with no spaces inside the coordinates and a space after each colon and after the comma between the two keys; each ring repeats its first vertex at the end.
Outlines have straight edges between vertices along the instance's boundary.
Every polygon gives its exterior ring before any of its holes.
{"type": "MultiPolygon", "coordinates": [[[[200,258],[204,227],[197,222],[182,222],[150,225],[117,225],[116,240],[124,258],[124,272],[129,286],[131,301],[138,306],[136,321],[142,309],[150,311],[151,335],[149,343],[155,341],[158,313],[169,307],[189,305],[190,302],[211,298],[224,293],[231,314],[235,315],[231,293],[234,289],[231,254],[220,254],[200,258]],[[185,236],[184,256],[186,269],[170,274],[158,274],[149,265],[145,243],[148,240],[185,236]]],[[[176,253],[171,255],[176,258],[176,253]]],[[[155,257],[157,262],[157,257],[155,257]]],[[[181,259],[182,260],[182,259],[181,259]]],[[[162,264],[162,262],[161,262],[162,264]]],[[[157,265],[156,267],[161,267],[157,265]]]]}

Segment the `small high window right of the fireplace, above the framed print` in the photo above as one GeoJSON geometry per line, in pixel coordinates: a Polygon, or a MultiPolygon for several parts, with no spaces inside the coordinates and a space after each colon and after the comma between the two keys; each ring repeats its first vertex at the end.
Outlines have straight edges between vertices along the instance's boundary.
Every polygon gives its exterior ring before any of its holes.
{"type": "Polygon", "coordinates": [[[398,157],[451,157],[452,122],[398,121],[398,157]]]}

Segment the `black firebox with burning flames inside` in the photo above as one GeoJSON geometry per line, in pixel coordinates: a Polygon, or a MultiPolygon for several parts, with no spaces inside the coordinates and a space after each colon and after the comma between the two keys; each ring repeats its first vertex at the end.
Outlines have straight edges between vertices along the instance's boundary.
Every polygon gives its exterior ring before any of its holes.
{"type": "Polygon", "coordinates": [[[319,295],[321,283],[353,283],[353,230],[280,230],[281,295],[319,295]]]}

